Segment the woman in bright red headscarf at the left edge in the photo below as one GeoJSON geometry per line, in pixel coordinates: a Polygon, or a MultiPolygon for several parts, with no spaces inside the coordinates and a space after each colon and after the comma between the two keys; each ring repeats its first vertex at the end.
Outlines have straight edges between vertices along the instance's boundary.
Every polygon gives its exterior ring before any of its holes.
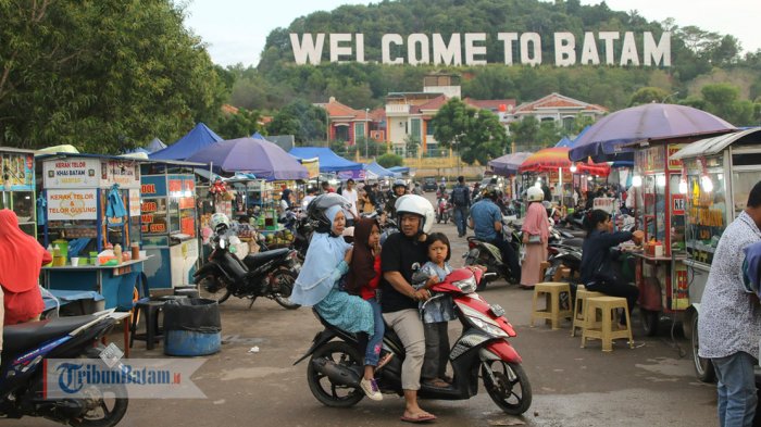
{"type": "Polygon", "coordinates": [[[37,280],[52,256],[18,228],[18,217],[0,210],[0,286],[5,293],[5,325],[37,321],[45,309],[37,280]]]}

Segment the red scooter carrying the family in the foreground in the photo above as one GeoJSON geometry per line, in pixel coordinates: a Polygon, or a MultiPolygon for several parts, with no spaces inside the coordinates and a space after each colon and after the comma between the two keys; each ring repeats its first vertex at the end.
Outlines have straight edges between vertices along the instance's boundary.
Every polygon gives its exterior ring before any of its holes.
{"type": "MultiPolygon", "coordinates": [[[[449,354],[454,372],[452,385],[438,388],[423,384],[417,397],[470,399],[478,392],[481,377],[489,397],[502,411],[520,415],[531,406],[532,387],[521,366],[521,356],[510,344],[509,339],[516,334],[504,317],[504,310],[489,304],[475,293],[482,275],[479,268],[459,268],[431,288],[431,300],[452,297],[456,313],[462,323],[462,335],[449,354]]],[[[365,395],[360,389],[363,366],[362,354],[357,350],[357,336],[328,324],[316,311],[314,314],[325,329],[314,337],[307,354],[294,365],[310,359],[307,380],[317,401],[330,407],[352,406],[365,395]]],[[[384,347],[394,353],[394,357],[376,372],[378,389],[383,393],[401,395],[404,347],[391,328],[386,328],[384,347]]]]}

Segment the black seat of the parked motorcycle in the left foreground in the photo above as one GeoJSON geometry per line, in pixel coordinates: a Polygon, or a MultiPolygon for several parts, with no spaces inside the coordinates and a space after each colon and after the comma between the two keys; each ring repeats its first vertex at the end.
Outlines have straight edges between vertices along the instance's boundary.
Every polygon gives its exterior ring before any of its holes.
{"type": "Polygon", "coordinates": [[[32,350],[45,341],[63,337],[93,319],[93,316],[71,316],[7,325],[2,330],[3,355],[15,355],[24,350],[32,350]]]}

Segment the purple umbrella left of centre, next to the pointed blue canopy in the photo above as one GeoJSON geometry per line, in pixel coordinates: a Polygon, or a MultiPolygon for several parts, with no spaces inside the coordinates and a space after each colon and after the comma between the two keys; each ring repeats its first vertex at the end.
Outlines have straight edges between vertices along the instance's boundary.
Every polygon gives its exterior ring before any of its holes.
{"type": "Polygon", "coordinates": [[[230,139],[214,143],[187,159],[212,163],[225,172],[246,172],[266,180],[307,179],[309,173],[298,160],[276,145],[253,138],[230,139]]]}

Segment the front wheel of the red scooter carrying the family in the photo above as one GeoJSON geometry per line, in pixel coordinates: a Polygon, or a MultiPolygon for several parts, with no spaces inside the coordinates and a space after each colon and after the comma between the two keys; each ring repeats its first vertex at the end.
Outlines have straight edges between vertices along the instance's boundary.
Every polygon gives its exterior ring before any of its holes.
{"type": "Polygon", "coordinates": [[[497,379],[497,384],[492,384],[486,366],[481,367],[484,387],[497,406],[510,415],[521,415],[528,411],[532,405],[532,385],[523,367],[504,361],[483,363],[489,365],[497,379]]]}

